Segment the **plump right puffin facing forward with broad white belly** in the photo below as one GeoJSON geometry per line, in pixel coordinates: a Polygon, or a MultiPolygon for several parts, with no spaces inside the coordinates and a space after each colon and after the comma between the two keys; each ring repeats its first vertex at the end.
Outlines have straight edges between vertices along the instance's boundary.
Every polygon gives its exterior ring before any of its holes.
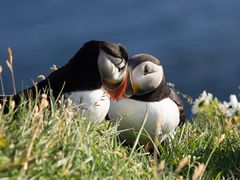
{"type": "Polygon", "coordinates": [[[150,54],[129,58],[124,96],[128,98],[111,101],[108,118],[117,123],[120,140],[126,145],[134,144],[143,123],[139,143],[151,149],[156,138],[163,142],[173,137],[175,129],[185,122],[174,85],[166,81],[160,60],[150,54]]]}

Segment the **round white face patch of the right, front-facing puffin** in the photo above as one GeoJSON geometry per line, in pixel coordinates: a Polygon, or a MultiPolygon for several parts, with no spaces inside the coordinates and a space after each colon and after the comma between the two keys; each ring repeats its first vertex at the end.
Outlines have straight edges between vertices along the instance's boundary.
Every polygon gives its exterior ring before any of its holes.
{"type": "MultiPolygon", "coordinates": [[[[143,61],[134,69],[129,70],[129,76],[132,93],[142,95],[153,91],[160,85],[164,72],[161,65],[151,61],[143,61]]],[[[131,96],[131,94],[126,92],[126,96],[131,96]]]]}

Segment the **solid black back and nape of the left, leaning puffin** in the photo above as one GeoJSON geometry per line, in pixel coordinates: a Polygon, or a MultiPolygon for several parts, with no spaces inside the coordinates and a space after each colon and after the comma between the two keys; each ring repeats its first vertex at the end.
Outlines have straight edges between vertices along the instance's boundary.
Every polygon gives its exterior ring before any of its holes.
{"type": "MultiPolygon", "coordinates": [[[[50,88],[55,98],[63,92],[100,88],[101,77],[97,65],[100,42],[92,40],[85,43],[66,65],[52,72],[36,86],[18,92],[12,99],[19,104],[21,95],[35,98],[37,91],[43,93],[50,88]]],[[[0,96],[0,100],[4,98],[8,100],[10,97],[0,96]]]]}

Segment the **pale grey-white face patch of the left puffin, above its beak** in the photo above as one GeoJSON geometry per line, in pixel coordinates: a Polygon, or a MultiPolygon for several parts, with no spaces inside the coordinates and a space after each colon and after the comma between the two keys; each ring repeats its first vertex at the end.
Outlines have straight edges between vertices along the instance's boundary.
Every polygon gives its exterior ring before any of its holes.
{"type": "Polygon", "coordinates": [[[127,62],[122,57],[114,57],[100,49],[98,69],[105,81],[116,84],[122,81],[126,75],[127,62]]]}

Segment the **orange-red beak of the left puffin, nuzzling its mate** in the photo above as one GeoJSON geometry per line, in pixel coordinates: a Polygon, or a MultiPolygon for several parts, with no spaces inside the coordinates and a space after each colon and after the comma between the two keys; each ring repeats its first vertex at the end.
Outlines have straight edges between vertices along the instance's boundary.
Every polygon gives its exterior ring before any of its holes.
{"type": "Polygon", "coordinates": [[[107,87],[104,87],[104,88],[107,90],[108,94],[111,96],[113,100],[119,100],[124,95],[126,86],[127,86],[127,75],[123,78],[123,82],[118,88],[114,90],[110,90],[107,87]]]}

